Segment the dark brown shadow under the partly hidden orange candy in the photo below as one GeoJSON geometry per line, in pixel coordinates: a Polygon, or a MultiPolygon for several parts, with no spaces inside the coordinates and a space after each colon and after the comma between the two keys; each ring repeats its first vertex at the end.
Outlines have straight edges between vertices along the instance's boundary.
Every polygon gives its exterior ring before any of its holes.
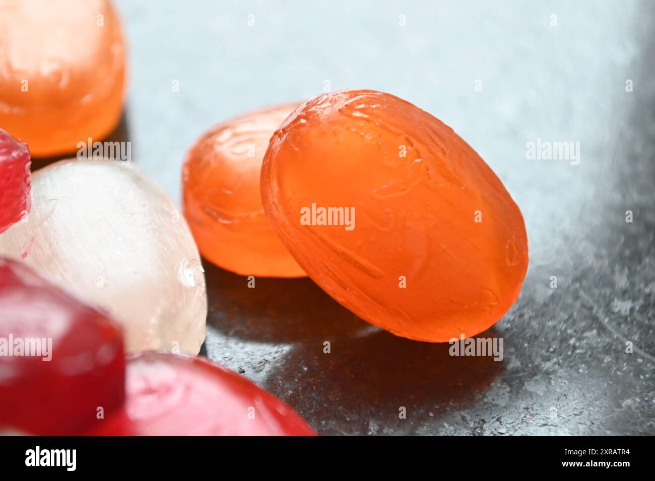
{"type": "Polygon", "coordinates": [[[362,336],[378,330],[328,296],[309,277],[248,277],[202,260],[207,324],[226,336],[257,342],[299,342],[327,336],[362,336]]]}

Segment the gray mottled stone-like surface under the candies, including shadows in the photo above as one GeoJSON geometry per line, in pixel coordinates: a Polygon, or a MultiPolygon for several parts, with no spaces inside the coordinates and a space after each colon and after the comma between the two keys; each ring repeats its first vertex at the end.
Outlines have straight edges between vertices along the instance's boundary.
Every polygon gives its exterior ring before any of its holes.
{"type": "Polygon", "coordinates": [[[208,357],[322,434],[655,434],[652,3],[117,3],[131,62],[122,135],[176,200],[183,154],[208,126],[327,80],[441,118],[525,216],[521,297],[484,334],[504,338],[500,363],[381,332],[307,279],[247,289],[210,265],[208,357]],[[526,160],[537,137],[579,141],[580,164],[526,160]]]}

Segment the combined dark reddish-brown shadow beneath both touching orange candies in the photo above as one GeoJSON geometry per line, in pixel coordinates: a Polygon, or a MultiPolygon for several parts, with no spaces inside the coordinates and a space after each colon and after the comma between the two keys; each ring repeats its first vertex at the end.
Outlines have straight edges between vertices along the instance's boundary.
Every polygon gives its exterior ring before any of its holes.
{"type": "MultiPolygon", "coordinates": [[[[504,372],[504,363],[493,357],[453,357],[449,344],[400,338],[369,325],[309,278],[257,277],[249,288],[248,277],[206,259],[203,266],[207,324],[225,336],[290,343],[262,387],[321,434],[434,433],[436,423],[460,416],[458,410],[504,372]]],[[[492,327],[479,337],[498,333],[492,327]]]]}

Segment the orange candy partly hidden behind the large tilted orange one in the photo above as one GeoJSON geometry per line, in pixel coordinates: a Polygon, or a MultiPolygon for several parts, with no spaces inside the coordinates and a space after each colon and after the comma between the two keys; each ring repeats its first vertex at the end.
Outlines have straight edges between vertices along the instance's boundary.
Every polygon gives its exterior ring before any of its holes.
{"type": "Polygon", "coordinates": [[[306,275],[275,234],[259,193],[269,139],[295,107],[238,116],[212,127],[187,152],[185,216],[200,253],[217,266],[244,276],[306,275]]]}

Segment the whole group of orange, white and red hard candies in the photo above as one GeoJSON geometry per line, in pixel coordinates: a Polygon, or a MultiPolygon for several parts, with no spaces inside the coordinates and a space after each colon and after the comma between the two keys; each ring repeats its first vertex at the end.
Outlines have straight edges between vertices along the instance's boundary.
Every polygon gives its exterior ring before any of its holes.
{"type": "Polygon", "coordinates": [[[331,92],[210,128],[183,162],[183,213],[122,162],[31,176],[29,149],[73,154],[115,128],[124,40],[107,0],[1,8],[0,432],[314,435],[195,356],[200,253],[244,276],[309,275],[428,342],[479,334],[517,300],[521,211],[451,128],[390,94],[331,92]]]}

